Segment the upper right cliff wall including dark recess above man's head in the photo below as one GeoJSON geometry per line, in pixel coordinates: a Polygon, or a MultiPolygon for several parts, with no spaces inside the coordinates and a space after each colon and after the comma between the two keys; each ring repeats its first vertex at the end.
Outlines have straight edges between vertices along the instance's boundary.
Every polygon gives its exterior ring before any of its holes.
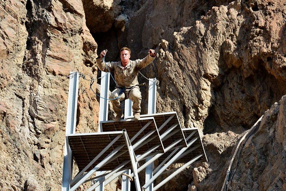
{"type": "Polygon", "coordinates": [[[108,48],[115,59],[128,46],[137,59],[154,48],[158,58],[142,72],[160,81],[157,111],[177,111],[185,127],[241,133],[286,94],[283,2],[120,5],[128,17],[125,29],[94,33],[99,49],[108,48]]]}

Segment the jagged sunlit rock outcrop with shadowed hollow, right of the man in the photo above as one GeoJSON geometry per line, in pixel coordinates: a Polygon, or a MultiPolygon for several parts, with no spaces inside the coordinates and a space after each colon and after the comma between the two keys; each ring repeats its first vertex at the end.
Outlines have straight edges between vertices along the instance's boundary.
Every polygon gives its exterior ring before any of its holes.
{"type": "Polygon", "coordinates": [[[271,32],[283,30],[285,20],[283,13],[268,14],[277,6],[269,3],[253,11],[248,3],[233,1],[213,7],[193,26],[175,32],[174,54],[160,47],[156,65],[163,68],[158,70],[162,86],[166,84],[176,96],[162,96],[161,106],[180,102],[175,110],[185,111],[181,112],[185,126],[204,132],[231,129],[239,133],[255,123],[286,93],[284,53],[273,45],[280,44],[281,38],[271,32]],[[279,29],[270,24],[273,19],[280,23],[279,29]],[[258,20],[265,21],[263,29],[258,20]],[[262,47],[264,53],[256,50],[262,47]]]}

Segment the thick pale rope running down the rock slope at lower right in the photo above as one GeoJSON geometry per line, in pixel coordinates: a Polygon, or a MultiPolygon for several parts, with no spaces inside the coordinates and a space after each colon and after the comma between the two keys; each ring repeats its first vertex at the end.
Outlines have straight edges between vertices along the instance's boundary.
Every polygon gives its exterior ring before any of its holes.
{"type": "MultiPolygon", "coordinates": [[[[238,152],[238,149],[239,149],[239,147],[240,147],[240,145],[241,145],[241,142],[245,139],[245,137],[247,136],[247,135],[249,135],[258,125],[258,123],[261,121],[261,119],[262,119],[262,117],[263,117],[264,115],[262,115],[257,121],[256,121],[256,123],[251,127],[251,129],[249,129],[246,133],[245,133],[245,135],[243,135],[243,137],[240,139],[240,141],[239,141],[239,143],[238,143],[238,145],[237,145],[237,147],[236,147],[236,149],[235,149],[235,153],[233,154],[233,157],[232,157],[232,159],[231,159],[231,162],[230,162],[230,164],[229,164],[229,168],[227,169],[227,174],[226,174],[226,177],[225,177],[225,181],[223,182],[223,187],[221,188],[221,191],[226,191],[227,190],[227,184],[230,182],[230,180],[229,180],[229,174],[231,174],[231,166],[232,166],[232,164],[233,164],[233,161],[234,161],[234,159],[235,159],[235,157],[236,157],[236,155],[237,155],[237,152],[238,152]]],[[[248,137],[249,138],[249,137],[248,137]]],[[[248,139],[247,138],[247,139],[248,139]]],[[[235,170],[235,172],[236,172],[236,170],[235,170]]],[[[232,177],[233,178],[233,177],[232,177]]]]}

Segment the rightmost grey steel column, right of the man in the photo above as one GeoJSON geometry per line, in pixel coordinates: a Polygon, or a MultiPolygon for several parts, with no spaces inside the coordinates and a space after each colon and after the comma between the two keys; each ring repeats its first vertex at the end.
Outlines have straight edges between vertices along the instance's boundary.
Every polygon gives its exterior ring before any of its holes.
{"type": "MultiPolygon", "coordinates": [[[[157,94],[157,86],[154,82],[156,78],[150,79],[149,78],[149,89],[148,89],[148,114],[155,114],[156,113],[156,94],[157,94]],[[152,80],[152,81],[151,81],[152,80]]],[[[146,162],[151,160],[152,158],[147,158],[146,162]]],[[[153,170],[154,170],[154,162],[146,167],[146,174],[145,174],[145,183],[148,182],[153,177],[153,170]]],[[[153,191],[153,182],[145,191],[153,191]]]]}

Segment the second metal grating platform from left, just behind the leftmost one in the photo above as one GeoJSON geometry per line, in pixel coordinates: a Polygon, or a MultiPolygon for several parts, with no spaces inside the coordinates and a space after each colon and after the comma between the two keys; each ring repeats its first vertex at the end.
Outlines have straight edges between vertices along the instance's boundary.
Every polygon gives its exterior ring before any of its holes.
{"type": "Polygon", "coordinates": [[[104,132],[126,129],[136,155],[142,155],[152,148],[152,152],[165,152],[153,117],[137,121],[134,119],[125,119],[119,122],[104,121],[100,122],[100,128],[104,132]],[[154,149],[154,146],[157,148],[154,149]]]}

